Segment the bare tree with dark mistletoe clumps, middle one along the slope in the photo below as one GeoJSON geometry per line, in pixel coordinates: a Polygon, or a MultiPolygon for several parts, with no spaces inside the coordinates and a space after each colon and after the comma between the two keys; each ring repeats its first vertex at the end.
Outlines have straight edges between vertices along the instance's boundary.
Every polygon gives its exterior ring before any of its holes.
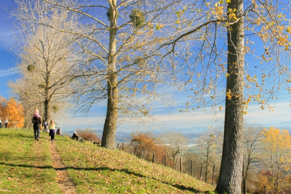
{"type": "Polygon", "coordinates": [[[107,101],[101,146],[115,149],[119,115],[122,119],[130,118],[129,122],[133,122],[132,118],[143,121],[150,115],[154,100],[170,102],[166,94],[171,94],[179,83],[181,68],[167,49],[156,50],[161,42],[178,33],[173,28],[176,20],[171,16],[176,16],[173,9],[180,1],[107,0],[80,4],[43,0],[55,9],[87,19],[78,28],[44,25],[79,36],[75,40],[90,63],[84,71],[86,77],[79,80],[84,87],[76,87],[76,103],[88,111],[95,103],[107,101]]]}

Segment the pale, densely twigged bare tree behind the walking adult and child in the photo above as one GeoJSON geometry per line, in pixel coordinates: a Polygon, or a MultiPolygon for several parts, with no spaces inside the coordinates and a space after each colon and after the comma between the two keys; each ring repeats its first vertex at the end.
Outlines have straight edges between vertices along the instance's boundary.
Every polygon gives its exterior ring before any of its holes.
{"type": "Polygon", "coordinates": [[[10,87],[18,93],[22,103],[28,103],[25,105],[27,110],[30,110],[27,106],[33,104],[44,111],[44,120],[49,121],[53,113],[68,108],[66,102],[72,93],[70,86],[76,76],[79,57],[74,49],[73,37],[40,23],[73,28],[75,16],[65,10],[52,9],[40,0],[19,0],[17,3],[18,9],[11,12],[11,16],[16,17],[15,26],[20,32],[20,36],[16,37],[19,44],[15,52],[20,59],[17,67],[29,88],[19,88],[13,83],[10,87]],[[39,23],[33,21],[36,18],[39,23]],[[29,91],[33,92],[27,94],[29,91]],[[32,100],[27,100],[27,97],[32,100]]]}

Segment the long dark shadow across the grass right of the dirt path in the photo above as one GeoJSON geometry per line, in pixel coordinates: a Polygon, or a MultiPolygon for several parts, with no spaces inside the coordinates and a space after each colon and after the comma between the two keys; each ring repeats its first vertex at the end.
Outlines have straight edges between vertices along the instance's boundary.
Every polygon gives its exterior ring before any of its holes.
{"type": "Polygon", "coordinates": [[[73,169],[73,170],[86,170],[86,171],[111,171],[111,172],[114,172],[114,171],[119,171],[119,172],[125,172],[126,174],[128,175],[134,175],[136,177],[140,177],[140,178],[149,178],[149,179],[154,179],[158,182],[162,182],[163,184],[167,184],[167,185],[171,185],[173,187],[176,187],[177,189],[181,190],[181,191],[189,191],[189,192],[192,192],[192,193],[195,193],[195,194],[201,194],[201,193],[205,193],[205,194],[208,194],[209,192],[202,192],[202,191],[199,191],[199,190],[196,190],[194,189],[193,187],[185,187],[184,185],[179,185],[179,184],[176,184],[176,183],[169,183],[169,182],[165,182],[165,181],[161,181],[157,178],[153,178],[153,177],[147,177],[145,175],[142,175],[140,173],[136,173],[136,172],[131,172],[127,169],[116,169],[116,168],[108,168],[108,167],[98,167],[98,168],[76,168],[76,167],[67,167],[67,169],[73,169]]]}

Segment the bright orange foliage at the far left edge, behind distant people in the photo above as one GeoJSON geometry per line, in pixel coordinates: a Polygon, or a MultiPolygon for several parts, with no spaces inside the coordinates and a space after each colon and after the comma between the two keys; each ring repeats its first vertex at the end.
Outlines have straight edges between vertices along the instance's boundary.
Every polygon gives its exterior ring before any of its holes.
{"type": "Polygon", "coordinates": [[[24,113],[22,104],[16,102],[14,98],[8,101],[4,97],[0,97],[0,117],[2,126],[4,126],[5,118],[8,119],[8,128],[22,128],[24,126],[24,113]],[[17,121],[17,122],[16,122],[17,121]]]}

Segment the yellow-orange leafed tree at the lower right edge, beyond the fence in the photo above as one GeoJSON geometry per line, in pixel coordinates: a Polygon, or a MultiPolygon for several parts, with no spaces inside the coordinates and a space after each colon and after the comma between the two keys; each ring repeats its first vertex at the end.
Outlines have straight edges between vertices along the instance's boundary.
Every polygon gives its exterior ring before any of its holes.
{"type": "Polygon", "coordinates": [[[275,129],[275,127],[265,128],[262,134],[261,142],[268,158],[266,164],[270,171],[270,176],[268,176],[270,186],[276,194],[290,191],[291,185],[290,183],[286,184],[288,181],[285,181],[290,177],[290,134],[288,130],[275,129]]]}

